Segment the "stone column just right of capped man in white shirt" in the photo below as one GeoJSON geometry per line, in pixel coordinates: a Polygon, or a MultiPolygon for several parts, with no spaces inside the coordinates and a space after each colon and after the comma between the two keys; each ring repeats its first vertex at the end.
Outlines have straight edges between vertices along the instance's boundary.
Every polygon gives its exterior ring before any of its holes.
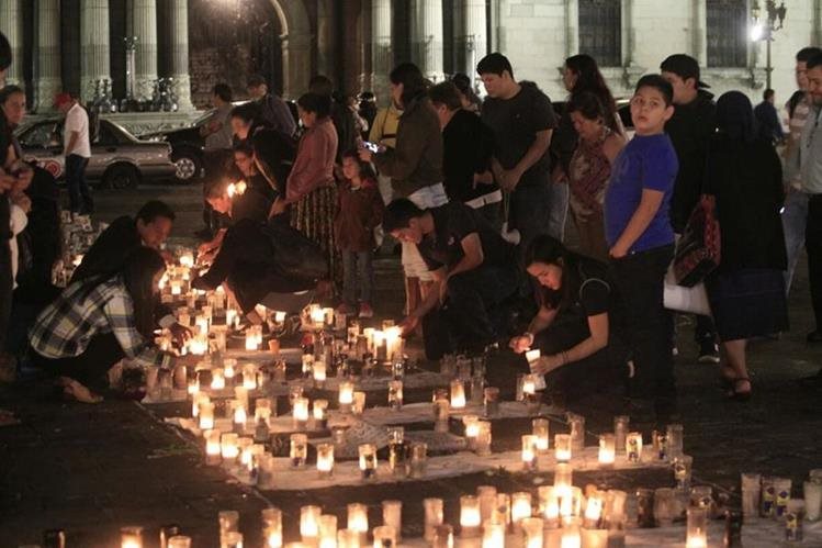
{"type": "Polygon", "coordinates": [[[109,0],[80,0],[80,97],[94,98],[94,82],[111,80],[109,0]]]}

